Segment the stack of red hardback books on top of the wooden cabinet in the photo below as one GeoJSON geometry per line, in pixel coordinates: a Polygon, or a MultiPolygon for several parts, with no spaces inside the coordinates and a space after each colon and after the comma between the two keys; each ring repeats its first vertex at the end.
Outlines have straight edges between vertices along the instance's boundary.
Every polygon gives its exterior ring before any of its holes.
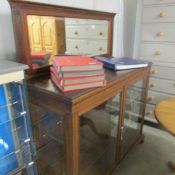
{"type": "Polygon", "coordinates": [[[50,73],[63,92],[102,87],[106,83],[102,63],[86,56],[55,56],[50,73]]]}

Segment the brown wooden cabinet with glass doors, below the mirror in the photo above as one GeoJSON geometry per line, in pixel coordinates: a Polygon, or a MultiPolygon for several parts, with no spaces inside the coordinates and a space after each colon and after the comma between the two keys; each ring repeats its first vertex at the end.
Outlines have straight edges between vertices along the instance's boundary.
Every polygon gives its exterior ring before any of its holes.
{"type": "Polygon", "coordinates": [[[38,174],[111,174],[131,147],[143,141],[150,67],[105,70],[105,87],[65,94],[49,77],[29,80],[38,174]],[[134,90],[140,84],[138,96],[134,90]]]}

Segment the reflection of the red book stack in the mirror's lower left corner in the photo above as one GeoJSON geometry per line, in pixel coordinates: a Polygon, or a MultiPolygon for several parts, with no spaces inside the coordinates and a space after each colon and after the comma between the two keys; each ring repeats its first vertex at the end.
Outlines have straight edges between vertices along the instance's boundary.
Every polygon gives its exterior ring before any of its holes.
{"type": "Polygon", "coordinates": [[[32,51],[32,67],[38,68],[44,65],[47,65],[49,62],[49,58],[51,56],[51,52],[48,51],[32,51]]]}

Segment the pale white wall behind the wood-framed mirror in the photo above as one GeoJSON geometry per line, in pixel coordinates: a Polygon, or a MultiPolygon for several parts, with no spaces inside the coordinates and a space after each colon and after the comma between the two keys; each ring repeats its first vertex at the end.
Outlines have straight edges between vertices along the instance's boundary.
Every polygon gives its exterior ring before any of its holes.
{"type": "MultiPolygon", "coordinates": [[[[32,0],[29,0],[32,1],[32,0]]],[[[33,0],[34,2],[43,2],[49,4],[58,4],[64,6],[85,8],[85,9],[94,9],[102,10],[108,12],[117,13],[115,17],[115,26],[114,26],[114,49],[113,55],[121,55],[121,38],[122,35],[119,35],[120,23],[119,23],[119,9],[120,1],[122,0],[33,0]]],[[[1,0],[0,4],[0,59],[12,59],[15,60],[15,41],[13,34],[13,26],[11,19],[10,6],[7,0],[1,0]]]]}

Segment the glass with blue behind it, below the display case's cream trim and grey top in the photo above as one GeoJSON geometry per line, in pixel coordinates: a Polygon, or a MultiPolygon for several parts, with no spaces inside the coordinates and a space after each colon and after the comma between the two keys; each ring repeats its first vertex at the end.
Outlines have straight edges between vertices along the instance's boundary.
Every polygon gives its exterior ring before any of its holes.
{"type": "Polygon", "coordinates": [[[0,85],[0,96],[0,172],[6,175],[28,169],[33,150],[23,82],[0,85]]]}

